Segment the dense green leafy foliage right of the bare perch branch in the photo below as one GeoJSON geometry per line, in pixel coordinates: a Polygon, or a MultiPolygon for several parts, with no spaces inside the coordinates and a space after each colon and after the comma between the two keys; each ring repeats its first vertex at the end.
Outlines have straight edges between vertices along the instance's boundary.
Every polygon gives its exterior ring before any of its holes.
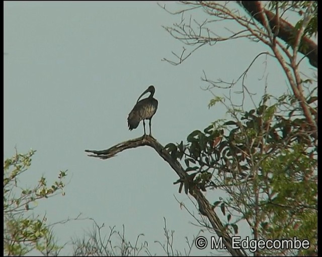
{"type": "MultiPolygon", "coordinates": [[[[213,208],[227,215],[231,232],[237,233],[237,222],[244,219],[258,239],[297,236],[316,245],[316,139],[295,97],[282,95],[269,105],[270,99],[264,95],[249,111],[230,110],[233,119],[218,120],[192,132],[187,144],[170,143],[166,149],[192,173],[190,186],[229,194],[213,208]]],[[[317,118],[316,107],[311,111],[317,118]]]]}

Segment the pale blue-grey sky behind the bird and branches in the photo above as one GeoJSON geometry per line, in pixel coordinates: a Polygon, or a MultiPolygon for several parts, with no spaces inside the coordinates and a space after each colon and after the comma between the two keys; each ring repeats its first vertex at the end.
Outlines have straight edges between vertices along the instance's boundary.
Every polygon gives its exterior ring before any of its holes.
{"type": "MultiPolygon", "coordinates": [[[[204,17],[200,11],[193,14],[204,17]]],[[[185,140],[192,131],[227,117],[219,105],[208,109],[212,95],[201,89],[207,86],[200,79],[202,70],[214,80],[233,80],[268,49],[247,40],[224,42],[205,46],[182,65],[172,66],[162,59],[172,58],[171,51],[180,53],[183,44],[162,26],[179,20],[156,2],[5,2],[4,157],[11,157],[15,146],[21,153],[37,150],[23,177],[25,185],[36,183],[42,174],[52,182],[59,170],[68,169],[66,195],[37,207],[47,212],[49,222],[83,213],[119,230],[124,224],[127,239],[144,233],[150,251],[157,254],[162,251],[153,241],[164,240],[163,217],[175,230],[178,250],[186,246],[185,236],[191,239],[199,231],[189,224],[193,218],[180,209],[174,195],[197,211],[178,193],[175,172],[153,149],[127,150],[105,161],[84,152],[143,134],[142,124],[130,132],[126,122],[150,84],[159,102],[152,134],[160,144],[185,140]]],[[[222,28],[214,26],[214,31],[222,28]]],[[[265,80],[259,80],[264,61],[248,75],[256,99],[264,90],[265,80]]],[[[264,74],[274,95],[287,89],[276,61],[268,62],[264,74]]],[[[64,242],[90,228],[91,223],[78,221],[57,226],[55,232],[64,242]]],[[[207,252],[210,249],[193,250],[195,255],[207,252]]]]}

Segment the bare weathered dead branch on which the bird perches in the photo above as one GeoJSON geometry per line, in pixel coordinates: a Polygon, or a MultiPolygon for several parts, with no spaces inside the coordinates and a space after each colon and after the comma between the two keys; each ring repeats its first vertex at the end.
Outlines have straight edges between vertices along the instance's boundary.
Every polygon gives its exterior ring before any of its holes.
{"type": "Polygon", "coordinates": [[[216,234],[219,237],[222,237],[223,243],[226,246],[228,252],[232,256],[246,256],[247,253],[244,249],[234,249],[232,247],[231,237],[227,233],[215,211],[212,209],[212,205],[205,198],[200,189],[197,188],[197,186],[193,183],[191,175],[186,173],[181,164],[177,160],[173,159],[172,156],[165,150],[165,148],[160,145],[154,138],[150,136],[142,136],[140,138],[119,143],[106,150],[85,150],[85,152],[92,153],[89,155],[90,157],[96,157],[105,160],[116,156],[116,154],[126,149],[136,148],[140,146],[152,147],[158,153],[158,155],[162,157],[167,163],[169,163],[169,165],[174,169],[174,171],[180,177],[180,179],[175,183],[181,183],[180,189],[184,185],[186,194],[188,194],[189,192],[189,194],[196,199],[199,205],[200,213],[208,218],[216,234]]]}

